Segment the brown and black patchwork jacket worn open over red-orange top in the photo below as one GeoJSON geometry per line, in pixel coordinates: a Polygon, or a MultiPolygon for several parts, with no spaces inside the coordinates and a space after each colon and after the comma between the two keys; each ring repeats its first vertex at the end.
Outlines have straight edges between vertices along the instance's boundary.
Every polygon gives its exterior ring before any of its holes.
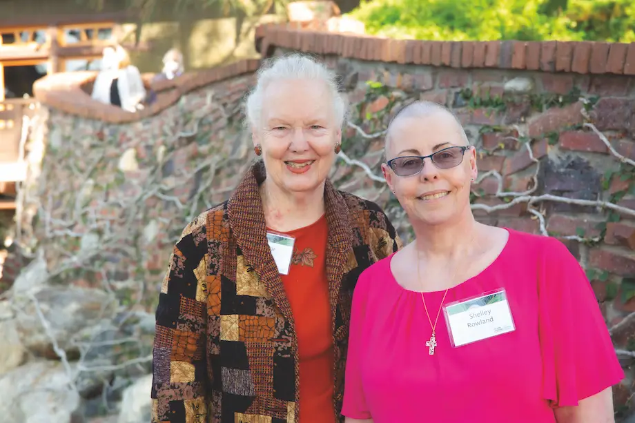
{"type": "MultiPolygon", "coordinates": [[[[228,201],[199,215],[175,245],[157,307],[153,423],[297,423],[291,306],[266,242],[255,164],[228,201]]],[[[374,203],[324,190],[338,420],[353,288],[401,246],[374,203]]]]}

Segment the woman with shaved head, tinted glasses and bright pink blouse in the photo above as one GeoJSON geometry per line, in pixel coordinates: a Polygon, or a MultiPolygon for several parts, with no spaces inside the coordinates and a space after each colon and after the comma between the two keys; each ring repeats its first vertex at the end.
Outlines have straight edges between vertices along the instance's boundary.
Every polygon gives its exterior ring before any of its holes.
{"type": "Polygon", "coordinates": [[[623,371],[569,250],[476,222],[475,150],[441,106],[398,113],[386,154],[416,241],[358,280],[346,422],[613,422],[623,371]]]}

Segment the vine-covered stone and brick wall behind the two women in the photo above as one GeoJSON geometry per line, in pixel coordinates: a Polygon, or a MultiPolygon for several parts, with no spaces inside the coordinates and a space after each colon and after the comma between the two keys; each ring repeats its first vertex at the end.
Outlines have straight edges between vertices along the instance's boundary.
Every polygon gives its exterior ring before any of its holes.
{"type": "MultiPolygon", "coordinates": [[[[398,41],[265,26],[256,46],[266,56],[312,52],[337,70],[351,116],[333,181],[378,202],[406,240],[411,231],[380,174],[383,131],[395,109],[414,99],[453,108],[478,148],[478,219],[563,239],[592,280],[623,365],[633,364],[635,45],[398,41]]],[[[76,289],[112,299],[107,322],[122,313],[151,322],[184,224],[226,199],[253,159],[240,101],[257,65],[185,75],[160,87],[157,105],[139,114],[92,104],[82,90],[88,74],[37,83],[42,107],[32,122],[17,240],[39,276],[23,278],[14,304],[55,308],[50,293],[66,287],[65,295],[88,310],[92,302],[76,289]]],[[[84,357],[63,336],[77,331],[77,321],[55,320],[60,327],[42,338],[15,310],[23,348],[48,359],[66,351],[70,366],[84,357]]],[[[40,318],[32,307],[19,310],[40,318]]],[[[141,331],[129,326],[111,336],[141,331]]],[[[124,352],[108,353],[116,364],[108,386],[130,377],[139,365],[131,366],[131,357],[149,371],[147,344],[124,352]]],[[[635,409],[627,373],[615,391],[620,419],[635,409]]],[[[102,393],[88,386],[79,391],[84,411],[102,393]]]]}

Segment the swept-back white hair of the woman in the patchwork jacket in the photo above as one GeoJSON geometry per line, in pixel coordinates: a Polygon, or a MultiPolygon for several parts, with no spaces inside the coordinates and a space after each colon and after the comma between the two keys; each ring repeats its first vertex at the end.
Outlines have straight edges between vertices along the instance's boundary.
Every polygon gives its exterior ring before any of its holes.
{"type": "Polygon", "coordinates": [[[335,72],[324,66],[324,63],[317,61],[309,55],[301,53],[291,53],[272,59],[266,62],[256,73],[256,84],[248,94],[245,101],[246,124],[251,128],[261,126],[260,117],[263,108],[263,92],[273,81],[285,81],[292,79],[313,79],[323,81],[329,88],[333,98],[333,116],[339,128],[346,119],[347,102],[346,98],[338,90],[338,77],[335,72]]]}

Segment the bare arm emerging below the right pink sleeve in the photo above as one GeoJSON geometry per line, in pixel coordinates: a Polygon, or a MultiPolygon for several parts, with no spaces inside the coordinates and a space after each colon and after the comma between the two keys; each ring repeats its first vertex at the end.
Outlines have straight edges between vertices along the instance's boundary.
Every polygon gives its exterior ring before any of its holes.
{"type": "Polygon", "coordinates": [[[559,407],[554,414],[558,423],[615,423],[613,389],[580,400],[577,406],[559,407]]]}

